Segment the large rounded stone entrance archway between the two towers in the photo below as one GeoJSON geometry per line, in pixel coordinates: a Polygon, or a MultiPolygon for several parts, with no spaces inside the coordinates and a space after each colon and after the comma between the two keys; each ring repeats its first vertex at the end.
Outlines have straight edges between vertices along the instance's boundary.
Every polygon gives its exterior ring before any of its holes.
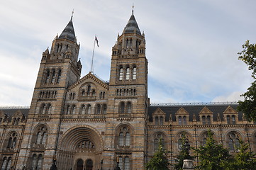
{"type": "Polygon", "coordinates": [[[57,167],[63,170],[100,169],[103,148],[102,137],[94,128],[88,125],[70,128],[60,140],[57,167]]]}

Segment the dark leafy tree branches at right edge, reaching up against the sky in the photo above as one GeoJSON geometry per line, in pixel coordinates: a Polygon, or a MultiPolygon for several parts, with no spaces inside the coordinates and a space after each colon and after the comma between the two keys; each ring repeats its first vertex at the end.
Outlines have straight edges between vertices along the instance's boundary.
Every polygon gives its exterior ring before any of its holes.
{"type": "Polygon", "coordinates": [[[245,100],[238,101],[238,111],[242,111],[247,120],[256,121],[256,45],[250,44],[249,40],[247,40],[242,47],[242,52],[238,52],[238,55],[240,55],[238,59],[245,62],[248,65],[248,69],[252,70],[252,78],[255,81],[252,82],[245,94],[241,95],[245,100]]]}

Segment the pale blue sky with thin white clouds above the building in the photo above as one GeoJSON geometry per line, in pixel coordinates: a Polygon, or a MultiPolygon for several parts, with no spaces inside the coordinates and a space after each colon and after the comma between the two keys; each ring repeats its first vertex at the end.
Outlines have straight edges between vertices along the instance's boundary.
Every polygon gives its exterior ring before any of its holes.
{"type": "Polygon", "coordinates": [[[111,48],[134,4],[145,33],[150,103],[243,100],[253,81],[238,60],[256,42],[256,1],[238,0],[8,0],[0,1],[0,106],[30,106],[42,52],[62,33],[74,10],[82,77],[109,80],[111,48]]]}

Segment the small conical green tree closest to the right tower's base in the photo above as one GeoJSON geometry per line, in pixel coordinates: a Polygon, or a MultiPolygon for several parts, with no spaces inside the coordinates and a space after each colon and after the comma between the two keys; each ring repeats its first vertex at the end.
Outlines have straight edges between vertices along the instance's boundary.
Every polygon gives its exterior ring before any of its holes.
{"type": "Polygon", "coordinates": [[[148,170],[169,170],[169,161],[167,159],[167,150],[162,147],[162,140],[160,140],[158,149],[154,156],[146,164],[146,169],[148,170]]]}

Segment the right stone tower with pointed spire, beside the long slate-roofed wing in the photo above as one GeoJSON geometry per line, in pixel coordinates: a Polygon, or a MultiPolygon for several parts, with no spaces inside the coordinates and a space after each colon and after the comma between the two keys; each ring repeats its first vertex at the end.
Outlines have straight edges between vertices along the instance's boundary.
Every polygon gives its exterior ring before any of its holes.
{"type": "Polygon", "coordinates": [[[132,11],[123,33],[118,34],[112,47],[105,134],[106,148],[112,150],[108,153],[111,157],[105,157],[108,162],[119,162],[123,169],[127,166],[144,169],[147,110],[145,35],[140,32],[132,11]]]}

